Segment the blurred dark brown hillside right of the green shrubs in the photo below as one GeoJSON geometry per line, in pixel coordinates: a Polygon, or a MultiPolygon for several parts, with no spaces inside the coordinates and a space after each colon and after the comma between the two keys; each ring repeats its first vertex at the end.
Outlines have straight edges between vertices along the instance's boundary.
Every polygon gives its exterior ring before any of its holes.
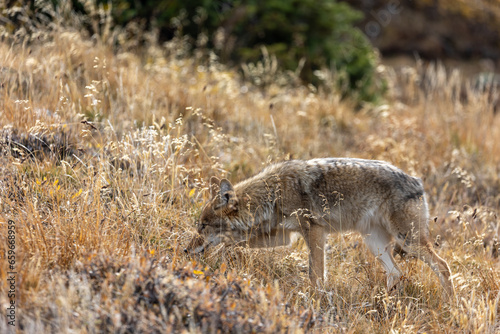
{"type": "Polygon", "coordinates": [[[385,57],[489,59],[498,71],[498,0],[347,2],[365,14],[358,26],[385,57]]]}

